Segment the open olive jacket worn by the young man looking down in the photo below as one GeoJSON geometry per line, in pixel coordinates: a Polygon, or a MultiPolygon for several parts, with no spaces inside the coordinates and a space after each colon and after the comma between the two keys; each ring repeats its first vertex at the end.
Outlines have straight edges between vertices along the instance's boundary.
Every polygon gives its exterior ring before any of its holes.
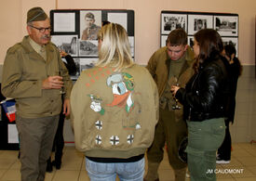
{"type": "MultiPolygon", "coordinates": [[[[185,52],[185,63],[182,67],[179,84],[184,86],[194,74],[193,64],[195,62],[194,53],[188,46],[185,52]]],[[[168,47],[158,49],[153,56],[149,59],[146,68],[153,76],[157,84],[159,97],[162,96],[166,85],[168,84],[170,58],[168,58],[168,47]]]]}

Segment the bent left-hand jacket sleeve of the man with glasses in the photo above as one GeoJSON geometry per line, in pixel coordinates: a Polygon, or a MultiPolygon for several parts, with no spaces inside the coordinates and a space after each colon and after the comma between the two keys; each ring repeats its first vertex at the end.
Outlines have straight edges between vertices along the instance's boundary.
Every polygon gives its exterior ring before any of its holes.
{"type": "Polygon", "coordinates": [[[22,80],[22,58],[18,51],[8,50],[2,75],[2,94],[5,97],[41,97],[41,80],[22,80]]]}

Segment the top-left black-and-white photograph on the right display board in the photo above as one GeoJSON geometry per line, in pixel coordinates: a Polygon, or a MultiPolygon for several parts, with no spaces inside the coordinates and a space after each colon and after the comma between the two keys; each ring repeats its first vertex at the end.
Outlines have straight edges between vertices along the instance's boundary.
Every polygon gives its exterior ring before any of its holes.
{"type": "Polygon", "coordinates": [[[187,15],[186,14],[161,14],[161,33],[168,34],[172,30],[182,28],[187,32],[187,15]]]}

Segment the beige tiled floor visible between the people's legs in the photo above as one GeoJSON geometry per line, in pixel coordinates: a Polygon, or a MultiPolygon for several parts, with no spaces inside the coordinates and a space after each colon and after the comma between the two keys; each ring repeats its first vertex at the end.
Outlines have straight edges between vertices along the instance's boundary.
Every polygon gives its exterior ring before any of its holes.
{"type": "MultiPolygon", "coordinates": [[[[20,180],[18,151],[0,150],[0,181],[20,180]]],[[[46,181],[88,181],[84,156],[74,147],[65,147],[61,170],[46,175],[46,181]]],[[[147,169],[147,168],[145,168],[147,169]]],[[[256,181],[256,145],[239,143],[233,145],[230,164],[217,165],[217,180],[256,181]],[[227,172],[236,172],[233,174],[227,172]]],[[[174,180],[173,171],[168,165],[167,155],[159,168],[161,181],[174,180]]],[[[187,180],[190,180],[187,178],[187,180]]]]}

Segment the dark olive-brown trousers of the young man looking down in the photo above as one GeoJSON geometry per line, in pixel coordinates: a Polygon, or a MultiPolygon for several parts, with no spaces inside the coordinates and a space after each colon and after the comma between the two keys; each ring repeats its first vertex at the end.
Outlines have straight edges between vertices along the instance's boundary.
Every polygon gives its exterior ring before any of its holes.
{"type": "Polygon", "coordinates": [[[187,126],[182,120],[175,121],[174,110],[159,110],[159,121],[155,126],[155,137],[151,147],[147,150],[148,162],[161,162],[164,147],[167,144],[168,162],[175,170],[186,167],[178,156],[178,149],[182,139],[187,136],[187,126]]]}

